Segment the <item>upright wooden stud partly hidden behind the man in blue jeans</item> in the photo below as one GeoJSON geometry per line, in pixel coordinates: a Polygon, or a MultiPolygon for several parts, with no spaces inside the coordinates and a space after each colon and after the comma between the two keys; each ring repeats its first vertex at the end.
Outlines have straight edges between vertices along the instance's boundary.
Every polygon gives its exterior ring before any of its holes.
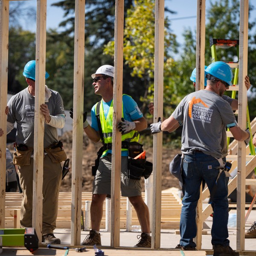
{"type": "MultiPolygon", "coordinates": [[[[196,23],[196,84],[195,90],[204,89],[204,51],[205,51],[205,0],[197,1],[197,23],[196,23]]],[[[195,243],[197,249],[202,246],[202,185],[200,187],[200,198],[197,206],[197,235],[195,243]]]]}

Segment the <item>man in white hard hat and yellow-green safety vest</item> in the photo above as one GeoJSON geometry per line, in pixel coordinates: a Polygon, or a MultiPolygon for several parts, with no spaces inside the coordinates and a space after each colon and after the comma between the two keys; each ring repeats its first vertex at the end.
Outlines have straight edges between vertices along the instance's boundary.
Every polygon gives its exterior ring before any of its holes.
{"type": "MultiPolygon", "coordinates": [[[[92,74],[94,93],[102,96],[102,100],[93,106],[91,110],[92,125],[84,119],[84,131],[93,142],[102,140],[107,146],[103,149],[99,158],[99,166],[93,180],[93,195],[90,207],[91,227],[90,233],[81,243],[82,245],[101,245],[100,224],[103,214],[103,202],[107,195],[111,195],[111,157],[112,157],[112,123],[113,123],[113,76],[114,67],[103,65],[92,74]],[[99,108],[99,112],[97,111],[99,108]],[[99,113],[100,126],[96,120],[96,113],[99,113]]],[[[73,118],[73,111],[70,111],[73,118]]],[[[138,142],[139,131],[147,128],[147,121],[143,117],[137,103],[131,96],[122,96],[122,122],[118,129],[122,133],[122,145],[130,142],[138,142]]],[[[121,152],[121,193],[129,198],[137,212],[142,233],[140,241],[134,247],[151,247],[150,223],[148,207],[143,201],[141,194],[140,180],[128,177],[128,149],[122,147],[121,152]]]]}

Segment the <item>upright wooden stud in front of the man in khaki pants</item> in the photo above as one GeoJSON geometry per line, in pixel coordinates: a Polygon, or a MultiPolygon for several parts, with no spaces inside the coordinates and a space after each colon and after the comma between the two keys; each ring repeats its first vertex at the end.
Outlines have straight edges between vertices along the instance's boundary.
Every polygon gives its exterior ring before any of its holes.
{"type": "Polygon", "coordinates": [[[43,212],[44,115],[40,111],[40,106],[45,102],[46,6],[47,0],[37,1],[32,226],[35,227],[39,243],[42,241],[43,212]]]}

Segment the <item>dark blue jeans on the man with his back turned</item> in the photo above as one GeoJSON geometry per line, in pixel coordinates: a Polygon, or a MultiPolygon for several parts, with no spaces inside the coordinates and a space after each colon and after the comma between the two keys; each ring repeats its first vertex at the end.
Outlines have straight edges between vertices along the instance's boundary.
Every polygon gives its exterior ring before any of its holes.
{"type": "MultiPolygon", "coordinates": [[[[192,155],[185,154],[182,177],[183,190],[185,192],[182,200],[180,215],[180,245],[196,247],[193,238],[196,236],[196,207],[200,195],[200,186],[204,179],[210,193],[217,179],[220,166],[218,160],[201,152],[194,152],[192,155]]],[[[212,220],[212,245],[229,245],[227,221],[228,221],[228,201],[227,201],[227,178],[224,172],[221,173],[215,196],[212,200],[213,220],[212,220]]]]}

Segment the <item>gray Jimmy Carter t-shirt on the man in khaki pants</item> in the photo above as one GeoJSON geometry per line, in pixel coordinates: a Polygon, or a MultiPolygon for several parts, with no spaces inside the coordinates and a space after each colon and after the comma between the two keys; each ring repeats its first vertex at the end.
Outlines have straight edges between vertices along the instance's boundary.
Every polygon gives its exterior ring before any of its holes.
{"type": "MultiPolygon", "coordinates": [[[[52,116],[65,114],[61,96],[54,90],[47,104],[49,113],[52,116]]],[[[7,122],[17,122],[16,143],[25,144],[34,147],[34,116],[35,116],[35,97],[33,97],[27,88],[12,96],[9,100],[9,114],[7,122]]],[[[58,142],[57,128],[47,125],[44,122],[44,148],[58,142]]]]}

